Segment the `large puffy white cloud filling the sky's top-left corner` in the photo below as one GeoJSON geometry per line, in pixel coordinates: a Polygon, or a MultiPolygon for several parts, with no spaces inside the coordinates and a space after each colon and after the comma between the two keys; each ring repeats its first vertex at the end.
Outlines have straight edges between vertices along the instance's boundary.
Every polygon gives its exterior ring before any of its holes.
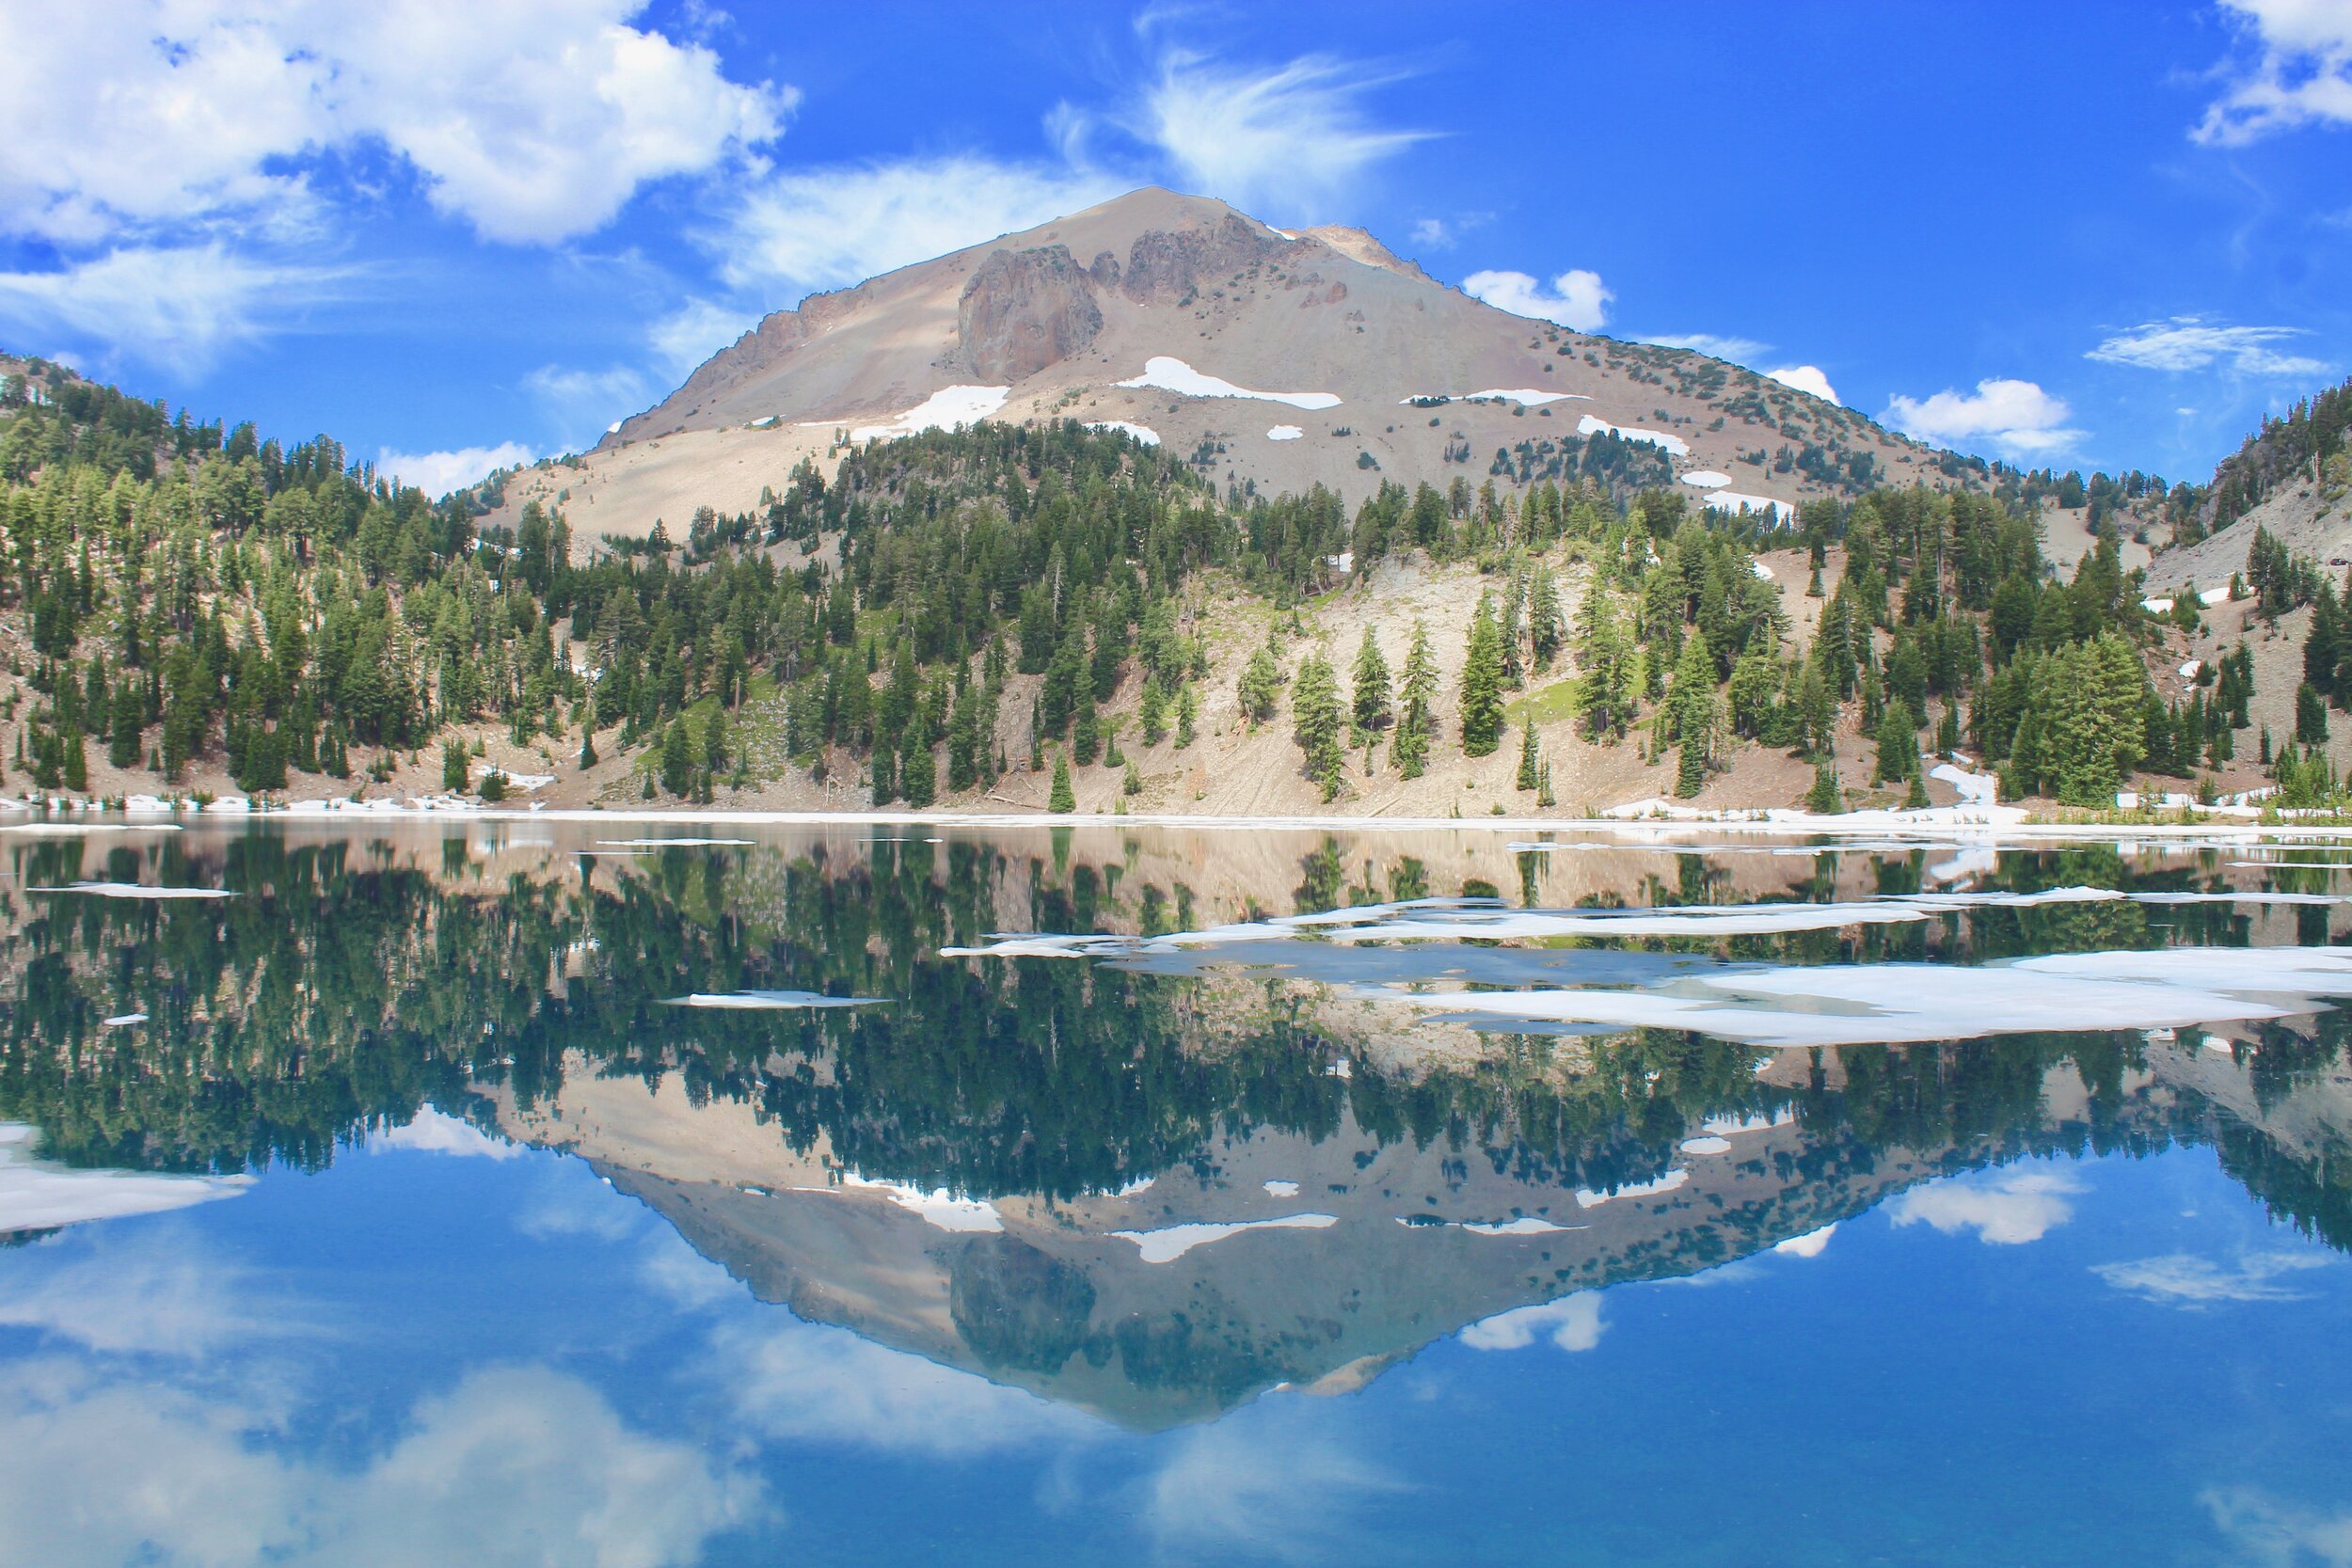
{"type": "Polygon", "coordinates": [[[506,242],[602,228],[649,181],[781,134],[788,87],[628,26],[637,0],[0,9],[0,228],[68,244],[268,223],[381,148],[506,242]]]}

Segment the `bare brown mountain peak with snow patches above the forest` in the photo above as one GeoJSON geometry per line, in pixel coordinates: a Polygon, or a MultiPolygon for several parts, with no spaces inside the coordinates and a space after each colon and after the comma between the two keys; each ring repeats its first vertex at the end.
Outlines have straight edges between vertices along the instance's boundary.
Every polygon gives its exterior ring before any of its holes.
{"type": "Polygon", "coordinates": [[[837,437],[971,418],[1117,423],[1218,487],[1350,503],[1595,463],[1757,508],[1983,473],[1750,369],[1496,310],[1359,228],[1134,190],[776,310],[583,461],[520,475],[508,510],[567,494],[583,538],[675,531],[837,437]],[[1599,425],[1630,449],[1595,454],[1599,425]]]}

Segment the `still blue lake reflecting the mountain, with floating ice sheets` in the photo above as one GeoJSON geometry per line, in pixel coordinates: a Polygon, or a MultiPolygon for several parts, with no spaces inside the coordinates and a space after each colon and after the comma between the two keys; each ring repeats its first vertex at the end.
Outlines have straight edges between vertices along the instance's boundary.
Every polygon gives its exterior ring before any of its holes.
{"type": "Polygon", "coordinates": [[[2347,898],[0,832],[0,1563],[2347,1563],[2347,898]]]}

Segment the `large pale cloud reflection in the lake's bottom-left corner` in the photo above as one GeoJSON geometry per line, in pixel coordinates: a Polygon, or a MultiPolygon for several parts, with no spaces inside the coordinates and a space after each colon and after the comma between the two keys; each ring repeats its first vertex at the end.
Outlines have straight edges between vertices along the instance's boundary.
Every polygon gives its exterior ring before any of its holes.
{"type": "Polygon", "coordinates": [[[466,1375],[390,1448],[346,1469],[289,1458],[252,1410],[85,1368],[0,1382],[0,1568],[101,1563],[701,1561],[764,1505],[699,1446],[628,1429],[576,1378],[466,1375]]]}

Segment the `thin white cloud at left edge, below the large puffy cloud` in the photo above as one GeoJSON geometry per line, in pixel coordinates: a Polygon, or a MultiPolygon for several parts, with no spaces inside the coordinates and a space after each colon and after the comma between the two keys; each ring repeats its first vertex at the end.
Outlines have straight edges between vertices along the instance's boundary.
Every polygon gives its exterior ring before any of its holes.
{"type": "Polygon", "coordinates": [[[73,334],[179,371],[292,324],[355,268],[238,256],[219,242],[122,247],[54,273],[0,273],[0,322],[73,334]]]}

